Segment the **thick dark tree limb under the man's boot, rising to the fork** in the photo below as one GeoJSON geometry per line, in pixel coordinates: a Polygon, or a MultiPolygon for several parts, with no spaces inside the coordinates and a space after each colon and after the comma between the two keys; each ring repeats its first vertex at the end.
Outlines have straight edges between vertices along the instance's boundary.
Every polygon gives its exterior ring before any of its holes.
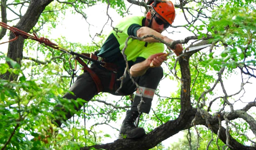
{"type": "Polygon", "coordinates": [[[195,112],[195,109],[187,111],[183,116],[178,117],[174,121],[166,122],[139,139],[118,139],[113,143],[82,147],[80,150],[89,150],[92,147],[106,150],[148,150],[179,131],[187,129],[190,125],[189,122],[191,122],[193,118],[191,114],[195,114],[195,112]]]}

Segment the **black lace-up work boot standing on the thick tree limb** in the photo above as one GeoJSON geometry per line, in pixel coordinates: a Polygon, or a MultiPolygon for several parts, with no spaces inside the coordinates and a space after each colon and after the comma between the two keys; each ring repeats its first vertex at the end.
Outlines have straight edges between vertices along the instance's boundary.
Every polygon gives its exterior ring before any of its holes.
{"type": "Polygon", "coordinates": [[[139,116],[138,111],[127,110],[125,119],[119,131],[118,139],[123,138],[139,138],[145,135],[145,130],[142,127],[134,125],[135,119],[139,116]]]}

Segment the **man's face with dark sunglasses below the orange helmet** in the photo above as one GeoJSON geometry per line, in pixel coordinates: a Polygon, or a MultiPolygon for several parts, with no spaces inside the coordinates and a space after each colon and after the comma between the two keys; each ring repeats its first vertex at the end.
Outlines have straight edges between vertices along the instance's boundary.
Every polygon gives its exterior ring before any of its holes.
{"type": "MultiPolygon", "coordinates": [[[[151,14],[152,15],[152,14],[151,14]]],[[[169,23],[164,21],[161,16],[158,14],[155,14],[153,19],[152,19],[152,24],[151,28],[154,29],[155,31],[162,33],[166,28],[170,26],[169,23]]]]}

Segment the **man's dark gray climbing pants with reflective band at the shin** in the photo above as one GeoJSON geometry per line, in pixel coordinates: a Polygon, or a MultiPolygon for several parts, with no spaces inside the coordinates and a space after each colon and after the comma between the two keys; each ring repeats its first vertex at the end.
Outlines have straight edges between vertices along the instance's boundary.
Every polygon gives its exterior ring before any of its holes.
{"type": "MultiPolygon", "coordinates": [[[[127,76],[123,80],[123,86],[118,93],[116,93],[116,90],[120,87],[121,81],[116,80],[117,75],[115,73],[113,73],[112,71],[106,70],[102,66],[94,63],[91,65],[90,68],[100,78],[103,86],[102,92],[108,92],[113,95],[129,95],[136,91],[131,110],[138,111],[137,106],[140,103],[141,96],[142,96],[144,102],[140,105],[139,110],[140,112],[149,113],[155,90],[157,89],[157,86],[163,77],[162,67],[149,68],[144,75],[134,77],[133,79],[135,80],[135,82],[138,83],[139,88],[136,88],[136,85],[133,84],[132,80],[127,74],[127,76]]],[[[76,81],[74,82],[74,84],[69,88],[69,91],[73,92],[74,95],[71,94],[70,92],[67,92],[63,96],[63,98],[75,99],[75,100],[77,98],[81,98],[86,101],[89,101],[95,95],[98,94],[97,87],[88,72],[84,72],[83,74],[79,75],[76,81]]],[[[60,109],[60,105],[59,105],[54,108],[54,111],[57,111],[58,107],[60,109]]],[[[79,105],[79,107],[78,108],[75,107],[75,109],[80,110],[81,107],[82,106],[79,105]]],[[[67,119],[71,118],[73,115],[70,112],[66,112],[66,113],[67,113],[66,118],[62,119],[63,121],[66,121],[67,119]]],[[[55,122],[58,125],[61,125],[59,120],[56,120],[55,122]]]]}

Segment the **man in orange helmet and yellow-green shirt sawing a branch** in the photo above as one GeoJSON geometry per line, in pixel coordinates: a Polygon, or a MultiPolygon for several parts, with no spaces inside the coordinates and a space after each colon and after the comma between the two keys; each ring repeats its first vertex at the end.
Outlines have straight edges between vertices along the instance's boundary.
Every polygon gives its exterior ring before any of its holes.
{"type": "MultiPolygon", "coordinates": [[[[120,87],[121,81],[116,79],[120,78],[125,70],[126,64],[121,50],[125,47],[125,41],[128,36],[143,37],[147,35],[154,35],[163,41],[170,43],[173,40],[161,33],[168,28],[174,21],[175,10],[171,1],[158,1],[149,0],[147,2],[149,11],[146,17],[133,16],[124,17],[116,25],[118,31],[112,30],[101,50],[98,53],[98,58],[103,58],[102,61],[114,64],[111,67],[101,66],[93,63],[90,67],[91,71],[96,74],[101,83],[95,81],[93,76],[88,71],[78,76],[76,82],[69,89],[70,92],[66,93],[63,97],[67,99],[82,98],[90,100],[97,95],[98,92],[109,92],[113,95],[129,95],[135,92],[136,85],[132,82],[129,75],[123,79],[123,85],[120,87]],[[113,71],[114,68],[116,70],[113,71]]],[[[139,111],[149,113],[151,108],[151,101],[153,99],[155,90],[163,77],[163,69],[161,64],[167,60],[163,54],[164,45],[159,40],[153,37],[144,38],[142,41],[136,39],[129,39],[125,55],[129,65],[129,72],[135,82],[138,83],[139,88],[133,99],[131,110],[128,110],[125,119],[120,129],[119,138],[123,136],[127,138],[139,138],[145,135],[145,131],[141,127],[134,125],[135,119],[139,116],[139,111]],[[154,67],[150,67],[150,64],[154,67]],[[142,93],[142,94],[141,94],[142,93]],[[140,103],[141,96],[143,103],[140,103]],[[138,111],[139,105],[139,111],[138,111]]],[[[181,44],[177,44],[173,50],[178,55],[183,50],[181,44]]],[[[76,109],[80,109],[76,108],[76,109]]],[[[56,107],[55,111],[60,107],[56,107]]],[[[63,110],[63,109],[62,109],[63,110]]],[[[60,115],[59,115],[60,116],[60,115]]],[[[57,125],[61,125],[61,121],[71,118],[72,114],[67,112],[66,118],[56,118],[57,125]]]]}

